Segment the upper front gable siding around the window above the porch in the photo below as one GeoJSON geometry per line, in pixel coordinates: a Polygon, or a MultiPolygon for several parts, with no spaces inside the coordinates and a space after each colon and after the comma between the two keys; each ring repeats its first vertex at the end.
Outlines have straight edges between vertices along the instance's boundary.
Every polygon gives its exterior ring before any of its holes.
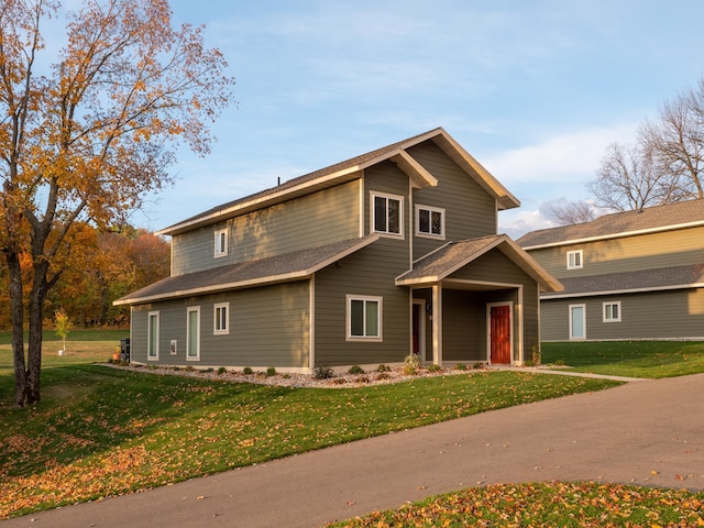
{"type": "Polygon", "coordinates": [[[435,143],[426,142],[408,150],[409,154],[438,179],[436,187],[414,189],[411,229],[416,229],[415,206],[444,209],[444,240],[416,237],[414,258],[431,252],[448,241],[496,234],[496,200],[450,160],[435,143]]]}

